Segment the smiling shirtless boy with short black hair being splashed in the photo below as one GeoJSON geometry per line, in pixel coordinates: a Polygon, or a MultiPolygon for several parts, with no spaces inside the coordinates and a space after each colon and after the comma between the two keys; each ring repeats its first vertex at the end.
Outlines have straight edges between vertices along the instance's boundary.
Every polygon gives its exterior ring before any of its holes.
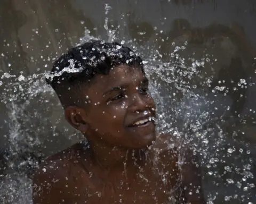
{"type": "Polygon", "coordinates": [[[169,135],[156,139],[155,104],[142,60],[118,43],[72,48],[46,79],[86,142],[48,158],[34,203],[203,203],[192,154],[178,166],[169,135]]]}

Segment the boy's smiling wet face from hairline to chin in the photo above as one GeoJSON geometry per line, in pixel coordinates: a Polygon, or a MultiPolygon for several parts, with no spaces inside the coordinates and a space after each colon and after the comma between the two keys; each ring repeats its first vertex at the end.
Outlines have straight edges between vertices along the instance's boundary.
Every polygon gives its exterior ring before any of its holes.
{"type": "Polygon", "coordinates": [[[149,120],[155,117],[155,103],[140,67],[116,66],[108,75],[97,75],[81,94],[90,100],[85,118],[91,140],[127,148],[144,148],[155,140],[149,120]]]}

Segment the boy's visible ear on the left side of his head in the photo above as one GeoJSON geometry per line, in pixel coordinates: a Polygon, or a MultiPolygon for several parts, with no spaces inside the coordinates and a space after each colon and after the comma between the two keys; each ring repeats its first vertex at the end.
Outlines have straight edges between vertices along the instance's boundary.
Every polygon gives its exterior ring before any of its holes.
{"type": "Polygon", "coordinates": [[[86,123],[86,112],[83,108],[77,106],[68,106],[65,108],[65,117],[73,128],[85,133],[88,129],[86,123]]]}

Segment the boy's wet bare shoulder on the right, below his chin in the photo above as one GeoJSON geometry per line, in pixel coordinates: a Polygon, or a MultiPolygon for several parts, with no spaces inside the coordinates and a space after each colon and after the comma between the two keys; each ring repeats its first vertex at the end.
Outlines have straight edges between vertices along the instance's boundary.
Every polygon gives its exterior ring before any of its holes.
{"type": "Polygon", "coordinates": [[[156,149],[161,152],[159,159],[168,164],[167,166],[171,168],[172,172],[174,171],[174,176],[171,176],[170,179],[181,187],[182,197],[180,199],[185,199],[186,202],[193,204],[205,203],[201,191],[201,175],[196,151],[189,145],[178,142],[169,134],[159,135],[156,149]]]}

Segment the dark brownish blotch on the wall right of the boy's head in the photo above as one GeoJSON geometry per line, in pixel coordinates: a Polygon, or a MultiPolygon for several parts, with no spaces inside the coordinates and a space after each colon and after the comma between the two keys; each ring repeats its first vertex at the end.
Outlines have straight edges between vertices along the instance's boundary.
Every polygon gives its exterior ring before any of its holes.
{"type": "Polygon", "coordinates": [[[200,84],[203,78],[213,75],[211,88],[205,87],[205,89],[212,91],[216,86],[225,86],[225,90],[228,90],[227,95],[234,101],[231,113],[233,115],[241,113],[246,101],[247,89],[234,90],[234,88],[241,79],[246,80],[251,77],[256,68],[254,63],[256,51],[246,37],[243,27],[233,23],[231,27],[211,24],[206,28],[192,28],[187,20],[177,19],[173,22],[173,29],[165,34],[155,31],[148,22],[135,23],[131,19],[130,36],[137,39],[137,43],[141,46],[155,39],[155,48],[163,55],[164,61],[172,61],[171,53],[175,46],[182,46],[185,41],[188,45],[180,56],[185,57],[188,64],[191,63],[191,58],[204,61],[209,58],[211,63],[206,63],[202,67],[201,75],[191,82],[200,84]]]}

